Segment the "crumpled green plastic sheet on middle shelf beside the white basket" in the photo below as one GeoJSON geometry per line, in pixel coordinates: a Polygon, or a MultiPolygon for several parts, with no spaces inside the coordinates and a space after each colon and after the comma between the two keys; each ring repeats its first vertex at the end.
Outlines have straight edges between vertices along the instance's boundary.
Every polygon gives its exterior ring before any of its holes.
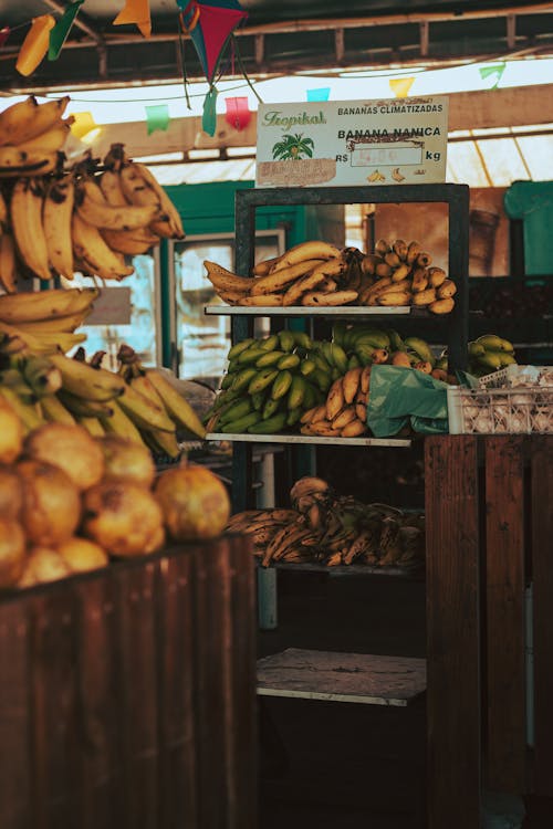
{"type": "Polygon", "coordinates": [[[375,438],[389,438],[408,424],[421,434],[447,434],[447,388],[416,368],[373,366],[367,426],[375,438]]]}

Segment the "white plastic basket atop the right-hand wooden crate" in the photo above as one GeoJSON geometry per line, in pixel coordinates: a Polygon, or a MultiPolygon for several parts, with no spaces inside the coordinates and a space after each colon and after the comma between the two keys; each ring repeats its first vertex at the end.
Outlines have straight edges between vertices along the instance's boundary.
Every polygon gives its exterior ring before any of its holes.
{"type": "Polygon", "coordinates": [[[553,433],[553,387],[449,386],[450,434],[553,433]]]}

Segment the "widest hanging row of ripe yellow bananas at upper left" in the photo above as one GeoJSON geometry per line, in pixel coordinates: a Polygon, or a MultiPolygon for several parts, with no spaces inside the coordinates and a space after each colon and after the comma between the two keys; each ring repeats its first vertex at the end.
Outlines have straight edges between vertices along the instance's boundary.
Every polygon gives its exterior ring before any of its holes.
{"type": "Polygon", "coordinates": [[[134,273],[128,256],[163,238],[184,238],[178,211],[121,144],[102,169],[85,158],[58,175],[18,176],[0,191],[0,283],[7,293],[17,291],[18,275],[72,280],[80,271],[119,281],[134,273]]]}

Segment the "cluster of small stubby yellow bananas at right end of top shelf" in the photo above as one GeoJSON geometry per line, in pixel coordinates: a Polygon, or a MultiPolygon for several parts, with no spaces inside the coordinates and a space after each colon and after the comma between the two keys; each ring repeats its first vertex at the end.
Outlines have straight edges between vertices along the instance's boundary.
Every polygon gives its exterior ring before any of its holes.
{"type": "Polygon", "coordinates": [[[455,307],[457,286],[441,267],[432,267],[431,256],[418,242],[403,239],[389,243],[379,239],[362,263],[359,305],[413,305],[432,314],[449,314],[455,307]]]}

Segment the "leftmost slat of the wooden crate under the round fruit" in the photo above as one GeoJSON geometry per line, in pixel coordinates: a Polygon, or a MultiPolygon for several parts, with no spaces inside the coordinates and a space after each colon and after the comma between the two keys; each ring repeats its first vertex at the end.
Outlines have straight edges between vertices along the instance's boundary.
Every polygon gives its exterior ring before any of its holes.
{"type": "Polygon", "coordinates": [[[0,607],[0,826],[33,829],[27,601],[0,607]]]}

